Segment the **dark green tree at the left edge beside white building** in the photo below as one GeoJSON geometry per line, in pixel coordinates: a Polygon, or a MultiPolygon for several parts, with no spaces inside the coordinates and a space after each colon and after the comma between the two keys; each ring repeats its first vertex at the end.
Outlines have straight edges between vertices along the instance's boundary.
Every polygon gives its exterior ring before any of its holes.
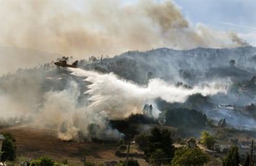
{"type": "Polygon", "coordinates": [[[15,138],[11,135],[11,133],[3,133],[4,141],[2,143],[2,156],[1,160],[4,162],[6,160],[15,160],[15,152],[16,152],[16,144],[15,138]]]}

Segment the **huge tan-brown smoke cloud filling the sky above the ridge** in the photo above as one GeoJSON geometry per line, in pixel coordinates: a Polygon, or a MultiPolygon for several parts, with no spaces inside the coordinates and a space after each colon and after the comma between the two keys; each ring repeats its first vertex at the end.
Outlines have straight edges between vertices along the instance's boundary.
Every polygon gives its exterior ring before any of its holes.
{"type": "Polygon", "coordinates": [[[247,45],[236,33],[214,31],[204,25],[193,27],[172,1],[2,0],[0,19],[0,46],[75,57],[114,56],[163,46],[191,49],[247,45]]]}

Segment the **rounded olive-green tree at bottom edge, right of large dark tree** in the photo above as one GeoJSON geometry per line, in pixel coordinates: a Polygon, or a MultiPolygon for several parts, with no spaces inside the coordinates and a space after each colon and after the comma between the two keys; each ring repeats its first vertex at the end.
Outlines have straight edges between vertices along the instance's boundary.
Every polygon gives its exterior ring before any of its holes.
{"type": "Polygon", "coordinates": [[[171,161],[172,166],[192,166],[192,165],[203,165],[210,160],[208,154],[203,152],[199,147],[187,149],[181,147],[174,153],[173,160],[171,161]]]}

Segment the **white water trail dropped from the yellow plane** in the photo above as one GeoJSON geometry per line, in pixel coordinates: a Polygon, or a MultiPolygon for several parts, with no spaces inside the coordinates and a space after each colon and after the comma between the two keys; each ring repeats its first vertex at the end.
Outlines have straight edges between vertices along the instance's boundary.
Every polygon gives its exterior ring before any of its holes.
{"type": "Polygon", "coordinates": [[[142,113],[143,104],[156,98],[168,102],[184,102],[188,96],[196,93],[207,96],[226,92],[225,86],[216,86],[217,83],[186,89],[154,78],[147,86],[141,86],[123,80],[114,73],[103,74],[80,68],[69,68],[69,70],[72,71],[72,75],[87,77],[85,81],[92,83],[85,92],[90,94],[92,101],[88,108],[94,112],[104,113],[109,118],[124,118],[132,113],[142,113]]]}

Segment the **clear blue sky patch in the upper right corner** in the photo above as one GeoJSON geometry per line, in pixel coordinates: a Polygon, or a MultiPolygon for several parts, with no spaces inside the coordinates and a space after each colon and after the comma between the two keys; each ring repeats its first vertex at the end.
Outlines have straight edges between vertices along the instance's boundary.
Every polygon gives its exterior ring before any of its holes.
{"type": "Polygon", "coordinates": [[[254,0],[174,0],[190,22],[215,30],[231,30],[256,46],[256,1],[254,0]]]}

